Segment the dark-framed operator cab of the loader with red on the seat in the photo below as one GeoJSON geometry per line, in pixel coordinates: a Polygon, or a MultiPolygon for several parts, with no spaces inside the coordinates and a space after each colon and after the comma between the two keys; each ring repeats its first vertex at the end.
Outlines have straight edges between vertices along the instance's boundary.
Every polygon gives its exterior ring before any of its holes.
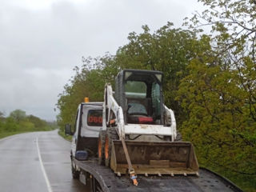
{"type": "Polygon", "coordinates": [[[122,70],[115,85],[126,124],[163,124],[162,72],[122,70]]]}

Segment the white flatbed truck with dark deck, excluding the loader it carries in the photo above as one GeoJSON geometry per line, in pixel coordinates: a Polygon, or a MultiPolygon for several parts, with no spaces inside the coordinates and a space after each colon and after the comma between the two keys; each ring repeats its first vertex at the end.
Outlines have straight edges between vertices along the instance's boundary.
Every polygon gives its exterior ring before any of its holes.
{"type": "Polygon", "coordinates": [[[198,175],[139,175],[138,186],[128,174],[115,174],[110,167],[98,163],[98,134],[102,129],[102,102],[82,102],[74,125],[66,125],[66,134],[73,135],[70,160],[74,179],[79,179],[93,192],[241,192],[228,179],[211,170],[200,168],[198,175]]]}

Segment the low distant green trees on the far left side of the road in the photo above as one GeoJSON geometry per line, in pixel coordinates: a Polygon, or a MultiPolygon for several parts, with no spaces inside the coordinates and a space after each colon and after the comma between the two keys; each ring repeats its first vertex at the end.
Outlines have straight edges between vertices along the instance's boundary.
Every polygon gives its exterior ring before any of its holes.
{"type": "Polygon", "coordinates": [[[14,110],[8,117],[0,112],[0,135],[8,132],[25,132],[38,130],[53,130],[54,123],[46,122],[34,115],[26,115],[23,110],[14,110]]]}

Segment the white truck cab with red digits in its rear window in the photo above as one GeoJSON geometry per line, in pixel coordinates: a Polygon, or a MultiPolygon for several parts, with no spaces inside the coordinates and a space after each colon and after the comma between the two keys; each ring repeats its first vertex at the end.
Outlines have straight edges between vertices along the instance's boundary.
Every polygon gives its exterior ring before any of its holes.
{"type": "Polygon", "coordinates": [[[98,134],[101,129],[102,102],[80,103],[74,123],[74,132],[71,131],[70,125],[65,127],[65,133],[73,135],[70,158],[74,178],[78,178],[74,158],[86,161],[88,158],[96,157],[98,152],[98,134]]]}

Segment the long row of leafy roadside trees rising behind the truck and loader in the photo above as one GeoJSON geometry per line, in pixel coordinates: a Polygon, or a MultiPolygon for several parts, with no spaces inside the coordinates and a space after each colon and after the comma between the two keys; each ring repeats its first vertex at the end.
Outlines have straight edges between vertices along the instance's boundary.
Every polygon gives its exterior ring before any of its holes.
{"type": "Polygon", "coordinates": [[[161,70],[166,106],[184,140],[194,143],[201,166],[256,189],[256,4],[199,0],[202,13],[151,32],[132,32],[114,55],[83,58],[58,98],[58,124],[74,122],[84,97],[102,101],[106,82],[122,69],[161,70]],[[209,26],[206,34],[202,27],[209,26]]]}

